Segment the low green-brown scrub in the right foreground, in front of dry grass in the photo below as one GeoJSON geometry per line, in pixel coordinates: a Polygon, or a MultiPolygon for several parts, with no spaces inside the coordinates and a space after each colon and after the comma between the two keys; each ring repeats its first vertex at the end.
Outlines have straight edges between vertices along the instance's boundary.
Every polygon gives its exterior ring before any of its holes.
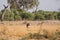
{"type": "Polygon", "coordinates": [[[48,40],[60,40],[60,32],[56,32],[55,34],[53,35],[49,35],[47,33],[47,31],[45,30],[44,31],[44,34],[40,34],[40,33],[28,33],[26,36],[23,36],[21,40],[29,40],[29,39],[37,39],[37,40],[40,40],[40,39],[48,39],[48,40]]]}

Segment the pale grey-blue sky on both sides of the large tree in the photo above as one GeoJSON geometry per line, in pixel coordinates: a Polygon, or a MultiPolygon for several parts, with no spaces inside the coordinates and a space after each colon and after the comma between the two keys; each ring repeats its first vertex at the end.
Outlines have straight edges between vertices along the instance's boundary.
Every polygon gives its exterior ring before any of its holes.
{"type": "MultiPolygon", "coordinates": [[[[38,10],[57,11],[60,8],[60,0],[39,0],[38,10]]],[[[7,0],[0,0],[0,10],[3,9],[3,4],[7,5],[7,0]]],[[[35,9],[34,9],[35,10],[35,9]]]]}

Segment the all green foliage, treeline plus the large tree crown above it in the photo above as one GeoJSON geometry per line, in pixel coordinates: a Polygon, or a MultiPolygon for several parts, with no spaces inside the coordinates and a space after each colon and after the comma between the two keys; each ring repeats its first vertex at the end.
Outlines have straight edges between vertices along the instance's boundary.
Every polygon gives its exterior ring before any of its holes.
{"type": "Polygon", "coordinates": [[[28,12],[25,9],[38,6],[38,0],[7,0],[10,10],[0,11],[0,20],[60,20],[60,12],[42,11],[28,12]]]}

